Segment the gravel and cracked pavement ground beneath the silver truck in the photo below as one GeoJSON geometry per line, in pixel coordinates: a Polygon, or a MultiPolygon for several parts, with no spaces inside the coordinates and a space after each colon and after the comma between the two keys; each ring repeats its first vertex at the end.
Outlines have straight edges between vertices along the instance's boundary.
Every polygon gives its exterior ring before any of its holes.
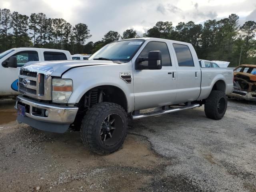
{"type": "Polygon", "coordinates": [[[0,191],[256,192],[256,104],[230,100],[222,120],[204,108],[131,123],[123,147],[92,154],[79,132],[16,124],[0,100],[0,191]]]}

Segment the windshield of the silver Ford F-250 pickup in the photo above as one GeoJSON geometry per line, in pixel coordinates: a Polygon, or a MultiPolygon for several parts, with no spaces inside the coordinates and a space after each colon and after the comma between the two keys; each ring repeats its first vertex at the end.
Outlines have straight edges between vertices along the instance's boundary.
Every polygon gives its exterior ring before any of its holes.
{"type": "Polygon", "coordinates": [[[96,53],[88,60],[113,60],[113,61],[130,61],[138,51],[144,40],[124,40],[110,43],[96,53]]]}

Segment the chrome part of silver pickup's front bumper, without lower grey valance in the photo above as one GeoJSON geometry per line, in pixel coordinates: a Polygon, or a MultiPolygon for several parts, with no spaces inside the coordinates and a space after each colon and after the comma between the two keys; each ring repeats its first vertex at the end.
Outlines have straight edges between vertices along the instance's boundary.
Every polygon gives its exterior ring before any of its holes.
{"type": "Polygon", "coordinates": [[[25,116],[41,122],[55,124],[71,124],[76,118],[77,107],[60,106],[56,104],[44,104],[35,100],[18,96],[16,98],[15,108],[18,104],[26,106],[25,116]],[[34,110],[47,110],[48,116],[38,116],[34,110]]]}

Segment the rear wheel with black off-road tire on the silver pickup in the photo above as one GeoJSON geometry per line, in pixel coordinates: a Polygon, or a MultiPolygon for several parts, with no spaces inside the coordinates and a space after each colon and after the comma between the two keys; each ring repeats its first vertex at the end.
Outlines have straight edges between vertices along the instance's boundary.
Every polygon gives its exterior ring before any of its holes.
{"type": "Polygon", "coordinates": [[[220,120],[225,115],[228,99],[224,92],[213,90],[205,100],[204,112],[210,119],[220,120]]]}

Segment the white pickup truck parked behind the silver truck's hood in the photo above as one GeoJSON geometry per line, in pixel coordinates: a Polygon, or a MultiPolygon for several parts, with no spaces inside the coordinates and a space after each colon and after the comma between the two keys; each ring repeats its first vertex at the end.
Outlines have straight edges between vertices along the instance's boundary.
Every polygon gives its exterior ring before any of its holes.
{"type": "Polygon", "coordinates": [[[12,48],[0,53],[0,98],[17,96],[18,72],[28,62],[72,60],[69,51],[44,48],[12,48]],[[16,67],[9,67],[9,60],[17,60],[16,67]]]}

